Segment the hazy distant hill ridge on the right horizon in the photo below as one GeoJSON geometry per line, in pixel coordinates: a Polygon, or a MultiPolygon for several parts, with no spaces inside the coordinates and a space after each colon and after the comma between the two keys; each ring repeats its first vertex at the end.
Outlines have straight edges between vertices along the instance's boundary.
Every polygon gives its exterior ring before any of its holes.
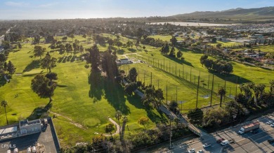
{"type": "Polygon", "coordinates": [[[229,10],[223,11],[205,11],[205,12],[193,12],[193,13],[185,13],[185,14],[178,14],[169,17],[176,17],[176,18],[273,18],[274,17],[274,6],[271,7],[264,7],[264,8],[233,8],[229,10]]]}

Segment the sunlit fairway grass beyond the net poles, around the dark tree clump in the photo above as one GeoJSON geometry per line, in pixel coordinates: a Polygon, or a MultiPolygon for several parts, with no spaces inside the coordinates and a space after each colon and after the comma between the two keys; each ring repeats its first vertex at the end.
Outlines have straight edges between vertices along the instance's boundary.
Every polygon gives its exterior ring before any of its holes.
{"type": "MultiPolygon", "coordinates": [[[[273,80],[274,71],[258,68],[256,66],[247,66],[244,64],[237,63],[235,61],[231,61],[233,64],[233,73],[230,75],[220,75],[215,72],[209,72],[207,68],[202,67],[202,64],[200,64],[200,57],[202,54],[192,52],[189,50],[182,50],[183,51],[183,57],[185,60],[181,61],[178,59],[172,59],[169,57],[164,57],[160,52],[159,48],[152,48],[148,45],[146,45],[146,49],[148,52],[140,52],[141,56],[136,56],[135,54],[132,54],[131,57],[136,57],[138,59],[141,59],[143,61],[148,62],[149,64],[153,64],[154,59],[154,66],[158,66],[158,60],[159,60],[159,68],[163,69],[163,64],[165,61],[165,70],[169,71],[169,68],[171,69],[171,73],[175,74],[175,68],[177,67],[177,75],[179,73],[181,77],[183,75],[184,70],[184,78],[187,80],[190,80],[190,71],[191,74],[195,75],[196,77],[196,84],[197,84],[197,76],[200,75],[200,79],[204,80],[204,83],[206,84],[204,87],[211,89],[211,81],[212,81],[212,74],[214,74],[214,92],[217,92],[218,86],[225,86],[225,80],[226,81],[226,96],[229,96],[229,94],[235,95],[236,93],[236,86],[237,84],[244,83],[244,82],[255,82],[256,84],[261,83],[266,85],[266,91],[269,90],[269,82],[270,80],[273,80]],[[169,66],[170,62],[170,66],[169,66]],[[186,78],[186,75],[188,75],[188,78],[186,78]],[[209,80],[209,83],[208,83],[209,80]],[[209,86],[207,86],[209,85],[209,86]],[[230,89],[231,88],[231,89],[230,89]]],[[[215,57],[209,57],[211,59],[216,60],[215,57]]],[[[192,78],[193,81],[193,78],[192,78]]],[[[240,90],[237,89],[237,92],[240,90]]]]}

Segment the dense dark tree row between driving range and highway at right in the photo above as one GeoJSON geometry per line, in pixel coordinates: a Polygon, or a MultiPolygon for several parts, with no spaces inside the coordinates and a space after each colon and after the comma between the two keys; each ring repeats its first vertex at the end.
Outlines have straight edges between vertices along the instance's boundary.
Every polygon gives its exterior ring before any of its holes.
{"type": "Polygon", "coordinates": [[[243,117],[247,117],[250,112],[273,108],[274,80],[271,80],[269,85],[270,92],[265,92],[266,85],[256,85],[253,82],[241,84],[240,93],[235,96],[234,101],[225,103],[224,107],[208,110],[205,114],[200,108],[190,110],[188,119],[193,124],[213,127],[241,120],[243,117]],[[261,108],[261,110],[254,110],[254,108],[261,108]]]}

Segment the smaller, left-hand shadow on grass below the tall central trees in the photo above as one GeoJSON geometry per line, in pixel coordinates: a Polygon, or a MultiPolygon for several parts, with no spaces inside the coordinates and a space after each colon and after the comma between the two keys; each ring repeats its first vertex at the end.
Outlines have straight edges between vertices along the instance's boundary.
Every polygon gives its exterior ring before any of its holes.
{"type": "Polygon", "coordinates": [[[103,77],[101,76],[100,71],[91,71],[89,75],[89,97],[93,98],[93,102],[100,101],[103,95],[103,77]]]}

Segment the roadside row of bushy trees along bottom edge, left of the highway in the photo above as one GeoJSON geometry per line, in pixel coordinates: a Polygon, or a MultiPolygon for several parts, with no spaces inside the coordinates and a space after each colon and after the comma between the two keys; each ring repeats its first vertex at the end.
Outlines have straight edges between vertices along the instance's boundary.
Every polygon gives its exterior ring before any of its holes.
{"type": "Polygon", "coordinates": [[[90,152],[91,150],[100,150],[101,152],[132,152],[133,150],[138,150],[138,148],[169,140],[170,129],[172,131],[172,139],[187,136],[191,133],[178,119],[174,120],[171,126],[168,126],[167,123],[159,123],[156,126],[155,129],[129,133],[129,136],[124,138],[124,140],[115,139],[113,136],[110,138],[96,136],[93,138],[93,143],[61,149],[61,152],[90,152]]]}

